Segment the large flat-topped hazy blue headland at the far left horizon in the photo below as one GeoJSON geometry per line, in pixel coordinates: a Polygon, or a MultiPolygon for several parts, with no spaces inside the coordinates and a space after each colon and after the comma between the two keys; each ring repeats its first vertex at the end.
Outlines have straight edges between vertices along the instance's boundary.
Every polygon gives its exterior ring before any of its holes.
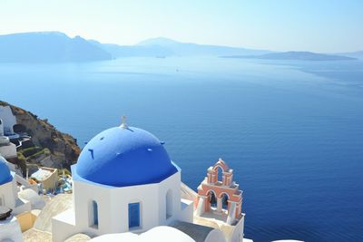
{"type": "Polygon", "coordinates": [[[110,53],[80,36],[59,32],[0,35],[0,63],[66,63],[110,60],[110,53]]]}

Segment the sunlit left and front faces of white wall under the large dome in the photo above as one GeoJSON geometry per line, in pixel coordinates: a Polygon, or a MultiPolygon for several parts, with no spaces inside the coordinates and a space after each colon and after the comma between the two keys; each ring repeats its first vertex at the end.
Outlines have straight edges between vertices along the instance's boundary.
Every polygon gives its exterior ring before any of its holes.
{"type": "Polygon", "coordinates": [[[128,205],[141,204],[141,227],[132,232],[142,232],[159,225],[159,184],[111,188],[74,181],[75,223],[82,231],[102,235],[129,231],[128,205]],[[90,201],[98,205],[98,228],[89,226],[90,201]]]}

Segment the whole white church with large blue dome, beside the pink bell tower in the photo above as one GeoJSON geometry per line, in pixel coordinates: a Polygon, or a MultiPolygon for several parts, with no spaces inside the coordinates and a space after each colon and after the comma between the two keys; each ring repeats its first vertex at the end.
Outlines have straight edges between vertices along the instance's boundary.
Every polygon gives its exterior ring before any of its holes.
{"type": "Polygon", "coordinates": [[[142,237],[156,234],[162,240],[174,232],[175,241],[179,241],[179,233],[190,238],[181,241],[243,239],[243,221],[233,239],[226,239],[220,229],[193,224],[195,204],[181,198],[181,169],[172,162],[163,142],[125,122],[93,137],[72,166],[72,175],[74,208],[53,218],[54,242],[80,232],[97,241],[116,235],[123,241],[131,233],[142,237]],[[200,235],[195,237],[195,232],[200,235]]]}

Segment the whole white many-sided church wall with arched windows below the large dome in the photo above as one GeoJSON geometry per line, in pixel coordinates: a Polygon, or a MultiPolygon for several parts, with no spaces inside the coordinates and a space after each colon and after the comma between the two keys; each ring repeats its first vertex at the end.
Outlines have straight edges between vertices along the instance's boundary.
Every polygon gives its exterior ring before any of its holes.
{"type": "MultiPolygon", "coordinates": [[[[105,233],[143,232],[165,225],[181,216],[181,172],[158,184],[112,188],[74,180],[75,225],[79,232],[105,233]],[[166,194],[172,190],[172,218],[166,219],[166,194]],[[98,227],[90,226],[90,203],[97,202],[98,227]],[[129,230],[129,203],[140,202],[140,227],[129,230]]],[[[188,210],[188,209],[186,209],[188,210]]],[[[185,216],[184,216],[185,217],[185,216]]],[[[191,214],[192,217],[192,214],[191,214]]]]}

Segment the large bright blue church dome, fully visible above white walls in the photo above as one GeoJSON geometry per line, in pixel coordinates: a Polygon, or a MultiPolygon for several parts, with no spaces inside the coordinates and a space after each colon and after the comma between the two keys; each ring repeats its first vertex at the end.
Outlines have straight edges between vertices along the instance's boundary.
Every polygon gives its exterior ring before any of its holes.
{"type": "Polygon", "coordinates": [[[83,148],[74,172],[94,183],[125,187],[158,183],[177,168],[162,142],[150,132],[122,125],[93,137],[83,148]]]}

